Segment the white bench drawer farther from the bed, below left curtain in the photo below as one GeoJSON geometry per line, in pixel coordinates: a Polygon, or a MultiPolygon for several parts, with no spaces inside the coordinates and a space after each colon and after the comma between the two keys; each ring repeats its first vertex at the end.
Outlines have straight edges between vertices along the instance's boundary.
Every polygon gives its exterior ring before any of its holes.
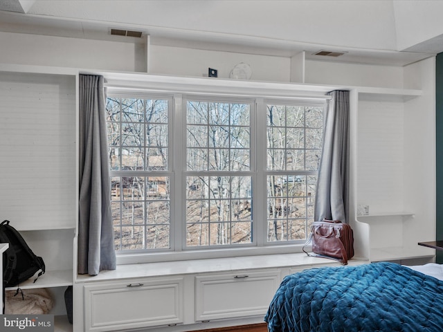
{"type": "Polygon", "coordinates": [[[183,322],[183,278],[132,279],[84,286],[85,331],[183,322]]]}

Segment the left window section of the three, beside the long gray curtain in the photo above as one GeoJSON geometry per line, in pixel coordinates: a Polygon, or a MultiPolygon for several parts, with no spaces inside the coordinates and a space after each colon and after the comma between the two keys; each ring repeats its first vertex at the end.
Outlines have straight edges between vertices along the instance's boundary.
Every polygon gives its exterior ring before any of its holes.
{"type": "Polygon", "coordinates": [[[107,99],[116,250],[170,248],[170,100],[107,99]]]}

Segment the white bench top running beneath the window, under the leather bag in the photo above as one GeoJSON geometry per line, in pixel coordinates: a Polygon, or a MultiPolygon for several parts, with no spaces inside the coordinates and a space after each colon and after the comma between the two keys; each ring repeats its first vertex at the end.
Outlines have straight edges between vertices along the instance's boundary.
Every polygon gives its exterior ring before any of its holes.
{"type": "MultiPolygon", "coordinates": [[[[365,263],[368,263],[368,260],[355,257],[350,261],[350,264],[365,263]]],[[[104,270],[94,277],[89,275],[78,275],[76,282],[103,282],[107,280],[137,277],[166,277],[170,275],[221,273],[262,268],[311,268],[315,266],[333,266],[337,264],[338,263],[332,259],[309,257],[303,252],[280,255],[192,259],[184,261],[163,261],[156,263],[120,265],[116,270],[104,270]]]]}

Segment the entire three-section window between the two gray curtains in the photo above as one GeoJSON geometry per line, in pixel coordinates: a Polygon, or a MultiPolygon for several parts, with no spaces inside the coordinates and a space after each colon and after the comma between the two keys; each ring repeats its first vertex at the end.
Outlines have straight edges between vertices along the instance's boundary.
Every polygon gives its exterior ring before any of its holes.
{"type": "Polygon", "coordinates": [[[300,100],[109,95],[116,250],[304,243],[323,109],[300,100]]]}

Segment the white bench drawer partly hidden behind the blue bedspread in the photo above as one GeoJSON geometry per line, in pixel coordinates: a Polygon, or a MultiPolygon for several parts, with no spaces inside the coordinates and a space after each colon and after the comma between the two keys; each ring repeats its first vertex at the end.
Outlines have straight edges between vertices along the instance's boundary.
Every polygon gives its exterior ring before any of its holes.
{"type": "Polygon", "coordinates": [[[280,285],[280,270],[195,278],[196,321],[264,315],[280,285]]]}

